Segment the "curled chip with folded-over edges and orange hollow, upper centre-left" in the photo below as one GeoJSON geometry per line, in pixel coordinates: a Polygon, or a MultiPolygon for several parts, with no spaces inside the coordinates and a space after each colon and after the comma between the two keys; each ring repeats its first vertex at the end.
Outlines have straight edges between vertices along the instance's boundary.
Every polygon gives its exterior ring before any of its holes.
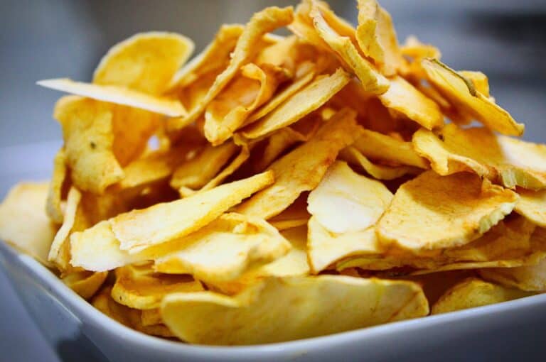
{"type": "Polygon", "coordinates": [[[243,65],[240,76],[232,79],[205,110],[203,129],[208,141],[217,146],[230,138],[287,76],[285,70],[274,65],[243,65]]]}

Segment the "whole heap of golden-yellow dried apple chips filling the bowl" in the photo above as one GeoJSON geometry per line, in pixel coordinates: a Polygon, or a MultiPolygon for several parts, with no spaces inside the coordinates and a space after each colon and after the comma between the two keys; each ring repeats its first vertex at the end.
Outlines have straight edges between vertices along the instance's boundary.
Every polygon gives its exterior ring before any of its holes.
{"type": "Polygon", "coordinates": [[[546,146],[481,72],[399,45],[375,0],[269,7],[193,43],[141,33],[53,112],[47,183],[0,237],[147,334],[262,344],[546,290],[546,146]],[[287,27],[292,35],[272,32],[287,27]],[[430,307],[429,307],[430,306],[430,307]]]}

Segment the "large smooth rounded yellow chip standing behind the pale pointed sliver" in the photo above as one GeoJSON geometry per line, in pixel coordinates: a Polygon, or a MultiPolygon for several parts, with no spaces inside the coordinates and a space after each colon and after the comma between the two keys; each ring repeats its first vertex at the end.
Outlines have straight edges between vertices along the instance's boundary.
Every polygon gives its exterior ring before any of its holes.
{"type": "Polygon", "coordinates": [[[100,60],[93,83],[161,94],[193,53],[191,39],[176,33],[139,33],[114,45],[100,60]]]}

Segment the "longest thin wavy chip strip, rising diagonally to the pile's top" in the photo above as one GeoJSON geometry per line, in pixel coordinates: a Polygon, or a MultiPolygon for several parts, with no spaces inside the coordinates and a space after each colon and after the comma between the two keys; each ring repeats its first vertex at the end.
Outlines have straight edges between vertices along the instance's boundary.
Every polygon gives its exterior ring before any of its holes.
{"type": "Polygon", "coordinates": [[[261,49],[259,42],[262,37],[281,26],[288,25],[291,23],[292,18],[293,9],[291,6],[283,9],[271,6],[255,13],[237,39],[237,45],[235,45],[235,50],[232,52],[228,67],[215,78],[213,84],[210,85],[206,94],[200,98],[198,104],[189,110],[188,116],[169,120],[171,130],[183,128],[198,119],[198,116],[205,111],[205,107],[235,77],[240,67],[250,62],[252,57],[257,55],[261,49]]]}

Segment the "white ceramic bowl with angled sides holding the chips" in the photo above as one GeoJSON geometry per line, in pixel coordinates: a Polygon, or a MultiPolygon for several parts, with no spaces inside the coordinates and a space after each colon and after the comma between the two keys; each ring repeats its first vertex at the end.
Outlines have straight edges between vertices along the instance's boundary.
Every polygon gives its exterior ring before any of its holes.
{"type": "Polygon", "coordinates": [[[536,295],[300,341],[191,346],[109,319],[40,263],[1,242],[0,261],[64,361],[502,361],[515,353],[528,361],[542,357],[546,341],[546,295],[536,295]]]}

